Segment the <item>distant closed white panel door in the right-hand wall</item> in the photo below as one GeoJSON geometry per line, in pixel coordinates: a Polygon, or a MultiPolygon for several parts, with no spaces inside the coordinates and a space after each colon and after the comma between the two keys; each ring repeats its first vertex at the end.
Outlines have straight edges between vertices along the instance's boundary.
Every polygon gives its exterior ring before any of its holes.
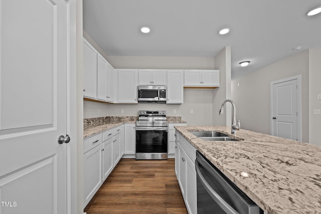
{"type": "Polygon", "coordinates": [[[297,80],[273,84],[273,135],[297,140],[297,80]]]}

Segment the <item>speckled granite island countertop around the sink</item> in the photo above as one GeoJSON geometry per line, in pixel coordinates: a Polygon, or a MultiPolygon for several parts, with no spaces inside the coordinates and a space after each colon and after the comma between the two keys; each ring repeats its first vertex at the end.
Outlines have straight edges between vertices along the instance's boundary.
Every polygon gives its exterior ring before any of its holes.
{"type": "Polygon", "coordinates": [[[175,126],[267,213],[321,213],[321,146],[225,126],[175,126]],[[190,131],[219,131],[240,141],[205,141],[190,131]],[[247,172],[249,177],[243,177],[247,172]]]}

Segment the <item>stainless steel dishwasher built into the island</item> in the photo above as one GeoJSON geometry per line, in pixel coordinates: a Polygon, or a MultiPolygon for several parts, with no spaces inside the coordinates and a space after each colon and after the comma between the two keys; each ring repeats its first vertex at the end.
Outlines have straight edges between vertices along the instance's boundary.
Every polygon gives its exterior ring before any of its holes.
{"type": "Polygon", "coordinates": [[[199,151],[196,151],[197,213],[263,213],[254,201],[240,190],[199,151]]]}

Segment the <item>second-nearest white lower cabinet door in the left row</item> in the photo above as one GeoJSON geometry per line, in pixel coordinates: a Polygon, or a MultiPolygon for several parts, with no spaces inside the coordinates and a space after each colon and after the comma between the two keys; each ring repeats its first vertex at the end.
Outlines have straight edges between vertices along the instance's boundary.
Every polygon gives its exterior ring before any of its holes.
{"type": "Polygon", "coordinates": [[[102,144],[102,182],[108,177],[113,169],[113,138],[109,138],[102,144]]]}

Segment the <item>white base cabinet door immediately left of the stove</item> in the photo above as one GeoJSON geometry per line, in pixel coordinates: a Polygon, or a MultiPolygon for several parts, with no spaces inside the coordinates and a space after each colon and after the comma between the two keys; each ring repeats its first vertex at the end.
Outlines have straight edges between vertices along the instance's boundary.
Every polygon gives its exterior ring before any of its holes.
{"type": "Polygon", "coordinates": [[[125,124],[124,134],[124,154],[135,154],[136,153],[136,130],[135,124],[125,124]]]}

